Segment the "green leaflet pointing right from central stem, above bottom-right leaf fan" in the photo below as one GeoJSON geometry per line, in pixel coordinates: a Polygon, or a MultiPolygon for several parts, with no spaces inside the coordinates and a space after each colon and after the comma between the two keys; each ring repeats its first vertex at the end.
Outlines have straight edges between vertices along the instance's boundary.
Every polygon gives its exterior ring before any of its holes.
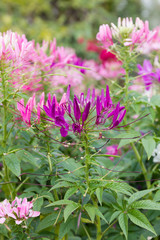
{"type": "Polygon", "coordinates": [[[131,187],[127,183],[121,183],[121,182],[114,182],[114,180],[108,183],[105,183],[105,188],[109,188],[111,190],[114,190],[115,192],[121,192],[126,195],[131,195],[129,191],[131,191],[131,187]],[[127,191],[128,190],[128,191],[127,191]]]}

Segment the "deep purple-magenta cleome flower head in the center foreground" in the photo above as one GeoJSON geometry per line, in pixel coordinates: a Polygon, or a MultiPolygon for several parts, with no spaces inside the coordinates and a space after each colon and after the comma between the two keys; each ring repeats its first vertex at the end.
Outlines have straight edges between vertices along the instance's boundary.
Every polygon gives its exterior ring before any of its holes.
{"type": "Polygon", "coordinates": [[[124,106],[112,103],[109,87],[106,86],[106,93],[102,89],[100,96],[95,95],[95,89],[92,93],[88,89],[86,98],[84,93],[79,96],[74,95],[70,99],[70,86],[68,86],[65,98],[57,103],[53,96],[52,103],[48,100],[48,106],[44,105],[44,111],[53,119],[55,126],[60,127],[60,133],[63,137],[71,131],[74,134],[94,131],[99,126],[104,126],[106,130],[113,129],[123,120],[126,110],[124,106]]]}

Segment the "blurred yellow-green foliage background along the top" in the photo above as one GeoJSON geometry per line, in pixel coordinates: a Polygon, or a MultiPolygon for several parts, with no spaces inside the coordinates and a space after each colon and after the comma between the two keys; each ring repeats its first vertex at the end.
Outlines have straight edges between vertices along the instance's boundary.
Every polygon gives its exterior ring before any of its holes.
{"type": "Polygon", "coordinates": [[[99,25],[117,17],[148,19],[159,25],[160,0],[1,0],[0,31],[24,33],[35,42],[57,39],[81,57],[87,40],[95,39],[99,25]]]}

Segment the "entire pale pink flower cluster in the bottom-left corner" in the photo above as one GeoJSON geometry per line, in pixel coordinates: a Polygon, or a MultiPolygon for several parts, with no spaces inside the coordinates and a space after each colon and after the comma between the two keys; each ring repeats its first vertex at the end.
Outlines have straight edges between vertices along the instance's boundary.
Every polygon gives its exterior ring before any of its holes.
{"type": "Polygon", "coordinates": [[[33,211],[33,201],[28,202],[27,198],[15,198],[10,203],[7,199],[0,203],[0,224],[6,220],[14,219],[17,225],[21,224],[28,218],[38,217],[40,212],[33,211]]]}

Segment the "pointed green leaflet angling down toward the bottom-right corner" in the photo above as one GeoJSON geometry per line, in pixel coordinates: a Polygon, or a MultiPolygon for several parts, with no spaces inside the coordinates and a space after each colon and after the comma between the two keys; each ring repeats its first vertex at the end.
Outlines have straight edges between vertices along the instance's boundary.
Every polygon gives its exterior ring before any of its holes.
{"type": "Polygon", "coordinates": [[[140,211],[136,209],[130,209],[128,210],[128,217],[137,226],[145,228],[156,235],[154,228],[152,227],[146,216],[140,211]]]}

